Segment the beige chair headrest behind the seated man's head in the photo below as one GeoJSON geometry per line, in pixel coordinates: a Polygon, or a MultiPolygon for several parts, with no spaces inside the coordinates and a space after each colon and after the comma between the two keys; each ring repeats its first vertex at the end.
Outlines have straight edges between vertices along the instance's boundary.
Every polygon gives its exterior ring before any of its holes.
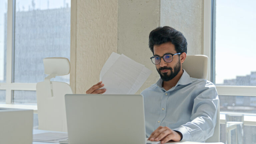
{"type": "Polygon", "coordinates": [[[208,57],[205,55],[187,55],[182,64],[182,68],[190,75],[190,77],[207,79],[208,57]]]}

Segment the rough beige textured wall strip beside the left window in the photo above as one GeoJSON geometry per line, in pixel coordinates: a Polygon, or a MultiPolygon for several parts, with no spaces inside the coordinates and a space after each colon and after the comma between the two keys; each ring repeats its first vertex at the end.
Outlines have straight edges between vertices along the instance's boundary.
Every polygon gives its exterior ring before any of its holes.
{"type": "Polygon", "coordinates": [[[76,7],[76,93],[86,93],[117,52],[118,0],[77,0],[76,7]]]}

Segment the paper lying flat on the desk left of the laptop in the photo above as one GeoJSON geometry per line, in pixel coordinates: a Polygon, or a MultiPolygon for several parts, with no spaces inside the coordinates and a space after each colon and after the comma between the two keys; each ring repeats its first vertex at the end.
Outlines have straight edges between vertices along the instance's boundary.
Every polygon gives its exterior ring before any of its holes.
{"type": "Polygon", "coordinates": [[[66,140],[66,139],[68,139],[67,133],[47,132],[47,133],[33,134],[33,141],[39,141],[39,142],[58,143],[59,141],[66,140]]]}

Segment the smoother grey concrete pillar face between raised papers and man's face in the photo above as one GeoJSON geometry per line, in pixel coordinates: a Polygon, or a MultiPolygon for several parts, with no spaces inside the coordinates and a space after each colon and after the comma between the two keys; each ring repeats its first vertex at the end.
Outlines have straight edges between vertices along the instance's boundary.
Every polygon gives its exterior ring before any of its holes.
{"type": "Polygon", "coordinates": [[[159,78],[150,57],[148,47],[150,31],[159,26],[160,0],[119,0],[118,3],[118,49],[133,60],[150,68],[153,72],[137,92],[154,84],[159,78]]]}

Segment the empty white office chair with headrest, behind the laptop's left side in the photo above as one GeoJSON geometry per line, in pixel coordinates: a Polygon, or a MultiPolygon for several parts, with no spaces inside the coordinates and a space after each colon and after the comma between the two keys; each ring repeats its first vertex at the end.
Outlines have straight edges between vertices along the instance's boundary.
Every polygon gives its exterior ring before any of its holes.
{"type": "Polygon", "coordinates": [[[67,132],[65,94],[72,94],[69,84],[50,81],[51,78],[67,75],[70,62],[67,58],[44,58],[43,82],[36,85],[38,129],[67,132]]]}

